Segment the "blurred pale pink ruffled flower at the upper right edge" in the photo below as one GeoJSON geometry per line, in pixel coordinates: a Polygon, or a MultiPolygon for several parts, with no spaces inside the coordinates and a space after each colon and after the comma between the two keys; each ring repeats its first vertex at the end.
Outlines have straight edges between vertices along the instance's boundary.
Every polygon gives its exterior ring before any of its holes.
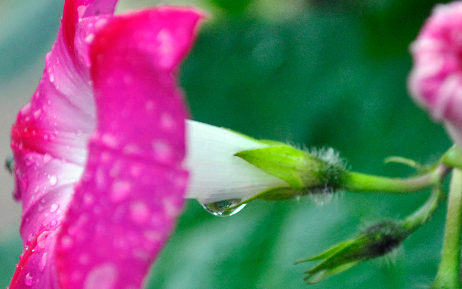
{"type": "Polygon", "coordinates": [[[436,6],[411,52],[413,98],[462,145],[462,1],[436,6]]]}

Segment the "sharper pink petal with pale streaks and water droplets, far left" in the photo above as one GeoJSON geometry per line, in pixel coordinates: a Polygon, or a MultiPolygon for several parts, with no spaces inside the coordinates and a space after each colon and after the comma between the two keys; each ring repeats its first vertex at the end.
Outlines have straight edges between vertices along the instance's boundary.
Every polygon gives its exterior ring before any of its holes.
{"type": "MultiPolygon", "coordinates": [[[[66,3],[69,6],[71,1],[66,3]]],[[[105,5],[94,3],[85,2],[94,7],[105,5]]],[[[56,287],[56,229],[61,227],[73,184],[83,172],[86,142],[95,127],[88,35],[103,18],[108,15],[80,19],[72,29],[61,24],[39,86],[12,127],[15,197],[23,206],[20,231],[24,253],[10,289],[56,287]],[[75,35],[75,45],[66,43],[63,31],[75,35]]]]}

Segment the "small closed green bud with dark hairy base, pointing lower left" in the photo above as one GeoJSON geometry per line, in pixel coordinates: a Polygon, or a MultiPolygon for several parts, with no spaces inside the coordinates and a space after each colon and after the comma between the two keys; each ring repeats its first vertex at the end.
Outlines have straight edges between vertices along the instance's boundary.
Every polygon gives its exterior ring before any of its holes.
{"type": "Polygon", "coordinates": [[[359,262],[383,256],[398,246],[410,234],[401,221],[383,221],[365,229],[357,237],[342,242],[311,258],[296,262],[322,260],[308,271],[304,281],[317,283],[339,274],[359,262]]]}

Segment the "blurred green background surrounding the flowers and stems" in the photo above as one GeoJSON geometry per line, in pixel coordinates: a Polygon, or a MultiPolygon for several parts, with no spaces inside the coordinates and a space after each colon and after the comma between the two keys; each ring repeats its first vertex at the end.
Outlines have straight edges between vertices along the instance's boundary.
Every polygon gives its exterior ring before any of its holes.
{"type": "MultiPolygon", "coordinates": [[[[195,120],[256,138],[332,146],[356,171],[406,176],[383,165],[401,155],[436,160],[450,140],[407,95],[409,43],[428,17],[428,0],[192,0],[210,13],[182,65],[195,120]]],[[[118,11],[152,6],[125,0],[118,11]]],[[[35,90],[56,35],[62,0],[0,1],[0,135],[35,90]]],[[[0,176],[0,287],[21,251],[12,178],[0,176]]],[[[444,206],[395,257],[366,261],[316,285],[311,264],[294,265],[383,219],[416,209],[428,192],[387,196],[348,192],[322,207],[300,201],[250,203],[220,218],[188,202],[153,266],[152,289],[426,288],[436,274],[444,206]],[[389,264],[391,263],[391,265],[389,264]]]]}

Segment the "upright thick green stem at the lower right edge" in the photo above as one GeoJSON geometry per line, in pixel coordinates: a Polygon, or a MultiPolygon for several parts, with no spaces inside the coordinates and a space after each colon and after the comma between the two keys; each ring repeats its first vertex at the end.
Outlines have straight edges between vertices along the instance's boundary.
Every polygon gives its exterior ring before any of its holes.
{"type": "Polygon", "coordinates": [[[462,171],[454,169],[450,184],[443,252],[432,289],[461,289],[462,171]]]}

